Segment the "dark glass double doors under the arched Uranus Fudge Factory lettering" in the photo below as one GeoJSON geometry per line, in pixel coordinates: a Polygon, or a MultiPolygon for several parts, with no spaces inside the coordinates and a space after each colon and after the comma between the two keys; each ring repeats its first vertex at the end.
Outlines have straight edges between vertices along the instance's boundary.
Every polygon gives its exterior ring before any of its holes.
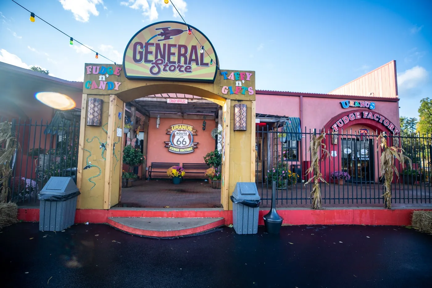
{"type": "Polygon", "coordinates": [[[341,141],[342,171],[348,172],[349,181],[374,181],[374,143],[372,139],[345,138],[341,141]]]}

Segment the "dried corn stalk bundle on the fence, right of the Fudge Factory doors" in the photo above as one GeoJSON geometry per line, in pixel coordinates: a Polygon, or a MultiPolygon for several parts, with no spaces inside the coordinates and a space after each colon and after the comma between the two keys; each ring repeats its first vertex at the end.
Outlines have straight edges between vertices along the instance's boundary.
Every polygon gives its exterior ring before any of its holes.
{"type": "Polygon", "coordinates": [[[378,143],[378,149],[377,149],[379,150],[381,148],[379,171],[381,177],[384,176],[384,184],[383,184],[384,194],[382,195],[382,197],[384,197],[384,207],[390,209],[391,208],[391,181],[393,179],[393,173],[396,173],[397,177],[399,177],[399,171],[397,171],[397,167],[396,165],[394,165],[394,159],[399,160],[400,163],[404,163],[405,160],[408,160],[410,166],[411,166],[411,159],[403,155],[402,148],[388,146],[387,139],[385,138],[383,133],[378,135],[377,142],[378,141],[381,141],[381,143],[378,143]]]}

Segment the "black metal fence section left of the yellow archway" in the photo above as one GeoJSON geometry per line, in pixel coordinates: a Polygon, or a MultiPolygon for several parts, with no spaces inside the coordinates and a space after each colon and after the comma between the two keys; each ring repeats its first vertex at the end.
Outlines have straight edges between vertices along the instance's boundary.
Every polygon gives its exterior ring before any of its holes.
{"type": "MultiPolygon", "coordinates": [[[[57,114],[56,114],[57,115],[57,114]]],[[[38,192],[51,176],[70,176],[76,181],[79,122],[54,116],[53,120],[4,119],[16,133],[19,148],[11,166],[8,200],[26,205],[38,201],[38,192]]]]}

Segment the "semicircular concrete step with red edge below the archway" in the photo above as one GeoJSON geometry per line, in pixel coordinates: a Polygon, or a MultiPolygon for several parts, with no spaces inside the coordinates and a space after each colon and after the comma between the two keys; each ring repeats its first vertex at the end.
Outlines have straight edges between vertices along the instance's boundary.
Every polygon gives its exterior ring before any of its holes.
{"type": "Polygon", "coordinates": [[[181,237],[224,225],[224,218],[110,217],[108,224],[124,232],[148,237],[181,237]]]}

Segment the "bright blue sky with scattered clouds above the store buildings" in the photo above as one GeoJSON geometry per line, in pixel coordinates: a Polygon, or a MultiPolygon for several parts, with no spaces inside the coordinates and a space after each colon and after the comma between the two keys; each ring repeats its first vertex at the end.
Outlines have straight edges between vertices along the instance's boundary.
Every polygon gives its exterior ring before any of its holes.
{"type": "MultiPolygon", "coordinates": [[[[17,0],[121,63],[152,22],[181,21],[164,0],[17,0]]],[[[256,88],[327,93],[397,61],[400,115],[432,97],[432,1],[173,0],[213,43],[222,69],[256,71],[256,88]]],[[[10,0],[0,1],[0,61],[83,80],[84,63],[109,63],[10,0]]]]}

